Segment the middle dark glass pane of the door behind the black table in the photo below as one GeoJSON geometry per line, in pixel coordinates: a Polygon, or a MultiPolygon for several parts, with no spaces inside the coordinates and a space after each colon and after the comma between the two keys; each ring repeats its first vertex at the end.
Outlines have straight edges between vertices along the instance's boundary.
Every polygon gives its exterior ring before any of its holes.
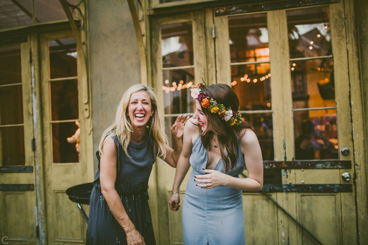
{"type": "Polygon", "coordinates": [[[78,119],[78,80],[52,81],[51,120],[78,119]]]}

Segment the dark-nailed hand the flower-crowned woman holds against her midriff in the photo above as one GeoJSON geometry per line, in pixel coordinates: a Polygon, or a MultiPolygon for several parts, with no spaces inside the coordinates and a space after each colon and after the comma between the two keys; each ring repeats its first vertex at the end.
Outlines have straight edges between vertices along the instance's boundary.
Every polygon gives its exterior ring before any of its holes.
{"type": "Polygon", "coordinates": [[[198,184],[197,186],[202,187],[203,189],[211,189],[215,188],[216,186],[226,186],[228,182],[228,175],[225,175],[224,173],[221,173],[217,170],[212,169],[202,169],[206,175],[196,175],[194,176],[198,184]]]}

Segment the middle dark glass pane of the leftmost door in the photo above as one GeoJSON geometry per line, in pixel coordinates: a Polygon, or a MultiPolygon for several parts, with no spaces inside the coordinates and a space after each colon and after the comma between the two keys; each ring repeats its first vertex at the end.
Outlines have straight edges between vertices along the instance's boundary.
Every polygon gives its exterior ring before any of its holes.
{"type": "Polygon", "coordinates": [[[0,87],[0,125],[23,124],[21,85],[0,87]]]}

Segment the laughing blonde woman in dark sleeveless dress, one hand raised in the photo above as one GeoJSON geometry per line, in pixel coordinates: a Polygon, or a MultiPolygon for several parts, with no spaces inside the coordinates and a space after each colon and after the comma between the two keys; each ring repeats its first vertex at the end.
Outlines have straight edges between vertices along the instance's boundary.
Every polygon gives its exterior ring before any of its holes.
{"type": "Polygon", "coordinates": [[[124,93],[116,120],[102,134],[96,153],[99,166],[86,244],[156,244],[147,202],[148,178],[156,157],[176,167],[187,120],[178,116],[171,127],[173,150],[167,145],[153,90],[139,84],[124,93]]]}

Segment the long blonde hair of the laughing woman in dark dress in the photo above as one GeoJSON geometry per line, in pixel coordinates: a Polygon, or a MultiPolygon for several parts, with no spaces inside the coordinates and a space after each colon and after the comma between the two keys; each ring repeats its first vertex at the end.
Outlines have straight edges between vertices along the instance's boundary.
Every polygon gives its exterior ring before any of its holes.
{"type": "Polygon", "coordinates": [[[168,143],[168,140],[166,134],[163,132],[164,120],[158,106],[157,96],[151,87],[147,87],[143,84],[133,85],[123,94],[123,98],[121,99],[118,106],[115,122],[102,134],[99,144],[100,156],[102,154],[103,144],[106,140],[106,136],[109,135],[110,137],[118,136],[119,142],[122,145],[125,154],[130,157],[127,150],[130,143],[131,134],[133,133],[133,128],[131,126],[129,115],[127,115],[127,110],[129,106],[130,96],[133,93],[139,91],[146,91],[151,99],[153,115],[149,119],[147,126],[149,128],[149,136],[151,137],[151,139],[153,139],[154,142],[153,155],[155,157],[158,156],[165,159],[165,144],[168,143]]]}

